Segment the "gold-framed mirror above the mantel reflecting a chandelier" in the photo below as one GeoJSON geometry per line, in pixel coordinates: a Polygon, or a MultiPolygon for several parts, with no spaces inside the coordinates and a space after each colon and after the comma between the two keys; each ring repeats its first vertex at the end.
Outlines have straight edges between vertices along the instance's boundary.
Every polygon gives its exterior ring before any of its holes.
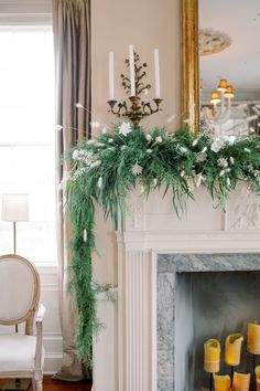
{"type": "Polygon", "coordinates": [[[183,113],[191,128],[216,137],[259,134],[259,0],[182,6],[183,113]]]}

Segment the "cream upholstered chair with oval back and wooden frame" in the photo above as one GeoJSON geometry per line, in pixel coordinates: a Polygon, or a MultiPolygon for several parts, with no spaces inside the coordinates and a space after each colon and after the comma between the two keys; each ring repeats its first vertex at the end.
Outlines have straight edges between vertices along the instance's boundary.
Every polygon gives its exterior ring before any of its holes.
{"type": "Polygon", "coordinates": [[[42,391],[43,378],[45,308],[39,297],[39,273],[31,262],[13,254],[0,256],[0,378],[31,378],[35,391],[42,391]],[[15,332],[22,323],[24,331],[15,332]]]}

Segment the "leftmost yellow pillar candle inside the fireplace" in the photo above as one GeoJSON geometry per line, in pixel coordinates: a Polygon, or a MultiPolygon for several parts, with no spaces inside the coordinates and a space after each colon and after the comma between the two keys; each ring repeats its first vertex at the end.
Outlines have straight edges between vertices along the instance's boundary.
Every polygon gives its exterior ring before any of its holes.
{"type": "Polygon", "coordinates": [[[206,372],[219,371],[220,344],[217,339],[208,339],[204,344],[204,369],[206,372]]]}

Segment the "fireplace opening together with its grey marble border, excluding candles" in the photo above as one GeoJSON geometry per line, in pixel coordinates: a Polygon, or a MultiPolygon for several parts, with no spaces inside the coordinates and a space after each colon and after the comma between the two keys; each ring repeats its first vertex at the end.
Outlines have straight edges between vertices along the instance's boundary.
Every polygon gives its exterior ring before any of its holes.
{"type": "MultiPolygon", "coordinates": [[[[217,338],[224,348],[260,319],[260,254],[159,254],[156,289],[158,390],[208,390],[204,342],[217,338]]],[[[230,374],[223,356],[220,373],[230,374]]],[[[246,341],[237,370],[252,371],[246,341]]]]}

